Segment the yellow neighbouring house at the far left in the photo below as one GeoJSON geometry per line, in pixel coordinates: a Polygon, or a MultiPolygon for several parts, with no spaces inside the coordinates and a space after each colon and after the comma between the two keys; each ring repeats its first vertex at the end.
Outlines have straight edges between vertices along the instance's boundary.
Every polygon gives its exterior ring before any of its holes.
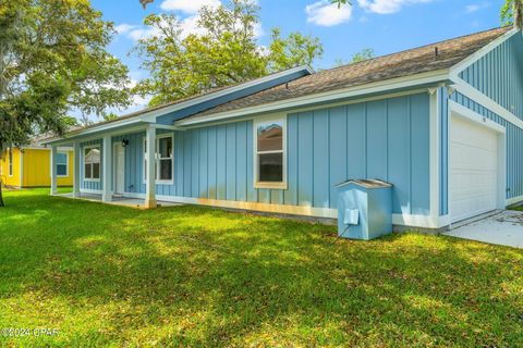
{"type": "MultiPolygon", "coordinates": [[[[57,184],[72,186],[74,154],[72,148],[59,148],[57,153],[57,184]]],[[[0,178],[8,186],[51,186],[51,149],[32,146],[12,149],[0,160],[0,178]]]]}

